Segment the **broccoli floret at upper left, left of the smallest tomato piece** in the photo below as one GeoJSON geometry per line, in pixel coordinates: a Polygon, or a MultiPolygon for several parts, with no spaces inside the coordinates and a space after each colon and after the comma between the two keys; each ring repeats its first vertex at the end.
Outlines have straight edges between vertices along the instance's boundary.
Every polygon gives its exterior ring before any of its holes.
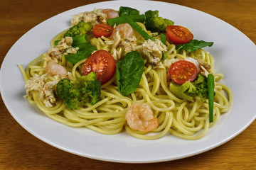
{"type": "Polygon", "coordinates": [[[84,35],[92,30],[92,24],[80,21],[77,25],[72,26],[65,34],[64,37],[75,37],[78,35],[84,35]]]}

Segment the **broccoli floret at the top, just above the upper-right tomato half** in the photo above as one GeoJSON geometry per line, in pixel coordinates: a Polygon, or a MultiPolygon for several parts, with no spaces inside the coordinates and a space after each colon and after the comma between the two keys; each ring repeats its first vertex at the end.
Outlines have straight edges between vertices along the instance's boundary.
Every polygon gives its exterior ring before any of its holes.
{"type": "Polygon", "coordinates": [[[174,25],[174,22],[162,18],[159,16],[159,11],[146,11],[145,13],[145,26],[147,30],[151,30],[152,32],[158,32],[158,33],[165,33],[166,32],[166,26],[174,25]]]}

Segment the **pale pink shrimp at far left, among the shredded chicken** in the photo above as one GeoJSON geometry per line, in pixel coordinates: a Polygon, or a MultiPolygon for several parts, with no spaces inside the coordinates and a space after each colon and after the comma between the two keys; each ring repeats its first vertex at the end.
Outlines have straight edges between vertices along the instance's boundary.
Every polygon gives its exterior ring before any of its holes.
{"type": "Polygon", "coordinates": [[[46,65],[46,72],[51,76],[59,75],[60,77],[64,77],[67,74],[67,70],[57,64],[54,60],[50,60],[46,65]]]}

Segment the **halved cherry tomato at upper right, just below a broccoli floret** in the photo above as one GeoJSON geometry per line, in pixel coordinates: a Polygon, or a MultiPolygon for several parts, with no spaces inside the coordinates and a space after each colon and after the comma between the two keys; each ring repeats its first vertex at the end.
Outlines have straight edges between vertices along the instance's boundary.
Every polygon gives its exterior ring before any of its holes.
{"type": "Polygon", "coordinates": [[[191,31],[183,26],[167,26],[166,34],[175,45],[185,44],[193,39],[191,31]]]}

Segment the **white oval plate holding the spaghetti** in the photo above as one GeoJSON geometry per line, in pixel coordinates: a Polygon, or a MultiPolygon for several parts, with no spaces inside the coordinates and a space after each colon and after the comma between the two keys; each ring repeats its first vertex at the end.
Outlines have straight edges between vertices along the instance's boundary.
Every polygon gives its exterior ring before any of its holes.
{"type": "MultiPolygon", "coordinates": [[[[1,95],[9,112],[23,128],[49,145],[73,154],[109,162],[164,162],[206,152],[231,140],[255,120],[255,44],[239,30],[218,18],[192,8],[158,1],[105,1],[65,11],[40,23],[23,35],[7,53],[1,66],[1,95]],[[201,140],[181,140],[166,135],[159,140],[138,140],[122,132],[102,135],[86,128],[70,128],[51,120],[26,98],[17,64],[24,67],[48,51],[50,40],[70,26],[71,16],[94,8],[129,6],[145,11],[159,10],[159,16],[191,29],[194,38],[213,41],[206,47],[215,59],[215,72],[233,91],[233,107],[221,115],[201,140]],[[239,66],[239,67],[238,67],[239,66]]],[[[231,152],[231,151],[230,151],[231,152]]]]}

